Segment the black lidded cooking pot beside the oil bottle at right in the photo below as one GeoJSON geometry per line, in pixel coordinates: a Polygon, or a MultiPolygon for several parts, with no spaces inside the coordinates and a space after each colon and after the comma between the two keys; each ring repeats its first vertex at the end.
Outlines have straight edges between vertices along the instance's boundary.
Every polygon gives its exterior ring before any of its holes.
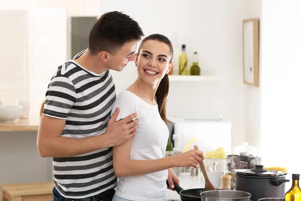
{"type": "Polygon", "coordinates": [[[255,165],[253,169],[236,169],[235,190],[251,193],[251,200],[264,197],[284,198],[286,172],[267,171],[263,165],[255,165]]]}

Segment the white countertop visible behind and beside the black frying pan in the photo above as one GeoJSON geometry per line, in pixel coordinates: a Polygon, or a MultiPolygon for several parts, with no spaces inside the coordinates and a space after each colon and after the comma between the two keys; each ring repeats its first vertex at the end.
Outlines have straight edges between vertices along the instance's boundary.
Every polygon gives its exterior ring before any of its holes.
{"type": "MultiPolygon", "coordinates": [[[[198,176],[190,176],[190,172],[181,172],[179,179],[180,186],[184,189],[205,187],[205,179],[202,172],[199,172],[198,176]]],[[[180,195],[177,193],[177,191],[167,189],[165,200],[168,201],[172,199],[180,199],[180,195]]]]}

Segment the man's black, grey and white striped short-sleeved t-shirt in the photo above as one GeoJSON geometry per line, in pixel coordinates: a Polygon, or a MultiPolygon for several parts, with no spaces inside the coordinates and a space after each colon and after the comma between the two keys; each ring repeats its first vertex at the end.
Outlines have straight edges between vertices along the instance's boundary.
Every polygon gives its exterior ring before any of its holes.
{"type": "MultiPolygon", "coordinates": [[[[74,59],[59,66],[46,92],[43,114],[66,119],[62,137],[86,138],[105,132],[115,86],[109,70],[96,74],[74,59]]],[[[113,172],[112,148],[75,157],[54,157],[54,184],[67,198],[96,195],[117,184],[113,172]]]]}

